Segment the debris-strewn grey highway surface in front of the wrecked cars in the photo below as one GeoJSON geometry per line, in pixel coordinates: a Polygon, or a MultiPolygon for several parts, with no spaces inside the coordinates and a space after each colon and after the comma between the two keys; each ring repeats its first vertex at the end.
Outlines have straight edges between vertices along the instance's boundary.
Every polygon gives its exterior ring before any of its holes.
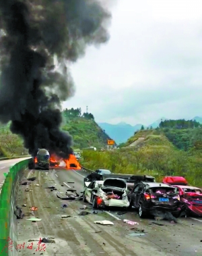
{"type": "Polygon", "coordinates": [[[18,244],[24,245],[24,249],[19,249],[20,256],[202,255],[202,219],[180,218],[178,224],[171,224],[168,221],[140,220],[134,210],[127,213],[117,209],[98,210],[98,214],[94,214],[88,203],[85,203],[88,207],[86,211],[90,214],[82,216],[79,212],[82,211],[83,201],[64,201],[57,198],[57,193],[65,196],[66,190],[70,188],[76,189],[77,193],[83,191],[83,176],[86,176],[86,172],[26,170],[25,176],[36,176],[36,180],[30,185],[19,186],[18,205],[26,205],[22,207],[25,217],[18,220],[18,244]],[[48,186],[55,186],[57,190],[51,191],[46,188],[48,186]],[[25,192],[26,188],[30,191],[25,192]],[[64,203],[67,203],[67,208],[61,207],[64,203]],[[31,211],[30,206],[38,207],[38,210],[31,211]],[[70,217],[62,218],[65,215],[70,217]],[[30,217],[38,217],[41,221],[30,222],[30,217]],[[124,223],[124,219],[138,222],[139,225],[124,223]],[[98,220],[109,220],[114,225],[94,224],[98,220]],[[52,238],[54,242],[42,242],[41,251],[37,251],[40,238],[52,238]]]}

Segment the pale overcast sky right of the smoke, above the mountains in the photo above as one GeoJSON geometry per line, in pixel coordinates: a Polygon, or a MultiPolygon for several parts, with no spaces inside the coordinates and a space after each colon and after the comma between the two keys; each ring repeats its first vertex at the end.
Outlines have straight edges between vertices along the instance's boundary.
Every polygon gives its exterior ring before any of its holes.
{"type": "Polygon", "coordinates": [[[202,116],[202,1],[108,1],[110,41],[71,66],[63,107],[112,124],[202,116]]]}

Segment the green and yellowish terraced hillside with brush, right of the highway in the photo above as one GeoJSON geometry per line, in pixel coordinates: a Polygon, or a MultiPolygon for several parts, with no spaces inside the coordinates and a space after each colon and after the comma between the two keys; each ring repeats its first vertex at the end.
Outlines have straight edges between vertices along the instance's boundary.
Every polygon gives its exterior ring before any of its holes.
{"type": "Polygon", "coordinates": [[[159,181],[163,176],[185,176],[190,184],[202,186],[202,128],[187,122],[166,120],[160,128],[135,132],[121,149],[83,152],[82,164],[92,170],[151,174],[159,181]]]}

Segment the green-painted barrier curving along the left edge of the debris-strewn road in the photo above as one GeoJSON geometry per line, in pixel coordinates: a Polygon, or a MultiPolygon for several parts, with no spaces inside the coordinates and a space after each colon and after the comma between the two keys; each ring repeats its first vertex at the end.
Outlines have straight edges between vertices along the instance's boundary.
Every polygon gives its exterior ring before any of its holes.
{"type": "Polygon", "coordinates": [[[17,178],[19,177],[20,171],[25,170],[28,167],[30,159],[26,159],[19,163],[13,165],[8,173],[4,173],[5,181],[1,188],[0,194],[0,255],[1,256],[10,256],[16,255],[17,251],[9,246],[10,242],[16,243],[16,241],[11,241],[13,234],[13,208],[11,205],[13,203],[14,187],[16,184],[17,178]],[[10,248],[9,248],[10,247],[10,248]],[[13,251],[12,251],[13,250],[13,251]]]}

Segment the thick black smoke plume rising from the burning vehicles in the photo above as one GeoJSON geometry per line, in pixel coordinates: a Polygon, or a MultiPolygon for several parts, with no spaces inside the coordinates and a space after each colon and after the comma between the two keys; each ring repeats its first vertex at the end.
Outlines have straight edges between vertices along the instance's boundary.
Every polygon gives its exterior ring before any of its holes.
{"type": "Polygon", "coordinates": [[[68,157],[72,138],[59,128],[61,101],[74,93],[66,64],[108,40],[110,14],[96,0],[3,0],[0,11],[0,122],[11,121],[32,155],[68,157]]]}

